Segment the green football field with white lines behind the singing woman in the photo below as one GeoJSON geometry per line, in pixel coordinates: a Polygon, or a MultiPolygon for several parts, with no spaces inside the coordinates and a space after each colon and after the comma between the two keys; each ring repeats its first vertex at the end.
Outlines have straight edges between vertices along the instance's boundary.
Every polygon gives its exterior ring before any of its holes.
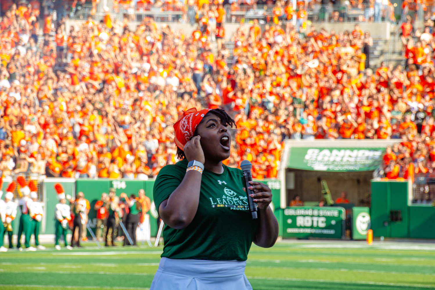
{"type": "MultiPolygon", "coordinates": [[[[138,289],[151,285],[162,247],[0,253],[0,289],[138,289]]],[[[282,241],[252,246],[246,276],[254,290],[435,289],[435,244],[282,241]]]]}

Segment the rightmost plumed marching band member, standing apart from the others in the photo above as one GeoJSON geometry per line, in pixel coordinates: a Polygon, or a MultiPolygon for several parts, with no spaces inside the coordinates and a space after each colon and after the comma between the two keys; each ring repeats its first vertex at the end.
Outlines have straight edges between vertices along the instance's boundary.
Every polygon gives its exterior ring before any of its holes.
{"type": "Polygon", "coordinates": [[[68,222],[71,220],[71,209],[70,206],[66,204],[67,198],[64,193],[64,188],[59,183],[54,185],[57,192],[57,199],[59,203],[56,204],[54,215],[56,217],[56,245],[54,248],[60,250],[59,239],[61,235],[64,235],[65,247],[68,250],[72,250],[73,247],[68,246],[67,243],[67,230],[68,222]]]}

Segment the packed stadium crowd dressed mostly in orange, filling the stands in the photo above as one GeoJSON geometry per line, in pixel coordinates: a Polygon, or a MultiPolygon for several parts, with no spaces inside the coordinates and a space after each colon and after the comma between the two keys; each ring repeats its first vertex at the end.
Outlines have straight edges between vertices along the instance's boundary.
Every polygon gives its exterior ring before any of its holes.
{"type": "Polygon", "coordinates": [[[0,23],[0,170],[6,180],[20,173],[155,176],[177,162],[172,125],[191,107],[230,113],[237,128],[226,163],[250,160],[254,178],[276,177],[286,138],[402,138],[393,150],[397,158],[387,154],[385,172],[399,166],[400,177],[411,163],[415,172],[432,170],[429,17],[422,31],[411,17],[402,24],[405,67],[382,63],[372,70],[373,40],[358,24],[340,32],[281,25],[291,13],[301,16],[304,3],[291,10],[277,1],[276,18],[263,30],[256,20],[242,21],[233,35],[225,35],[221,4],[198,7],[203,12],[191,35],[166,24],[159,29],[149,17],[133,31],[108,9],[104,20],[89,17],[66,31],[64,17],[54,29],[47,14],[42,41],[39,8],[32,5],[10,5],[0,23]],[[234,42],[232,53],[225,39],[234,42]],[[64,70],[54,70],[64,63],[64,70]]]}

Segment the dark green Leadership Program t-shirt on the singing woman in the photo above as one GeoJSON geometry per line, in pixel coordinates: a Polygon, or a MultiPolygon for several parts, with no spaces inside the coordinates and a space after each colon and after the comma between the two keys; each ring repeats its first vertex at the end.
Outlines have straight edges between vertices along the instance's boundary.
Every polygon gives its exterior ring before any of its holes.
{"type": "MultiPolygon", "coordinates": [[[[187,160],[163,167],[154,183],[158,209],[180,185],[187,160]]],[[[242,171],[224,165],[224,173],[204,170],[198,209],[192,222],[181,230],[165,226],[161,257],[214,261],[245,261],[258,229],[252,220],[248,198],[243,191],[242,171]]]]}

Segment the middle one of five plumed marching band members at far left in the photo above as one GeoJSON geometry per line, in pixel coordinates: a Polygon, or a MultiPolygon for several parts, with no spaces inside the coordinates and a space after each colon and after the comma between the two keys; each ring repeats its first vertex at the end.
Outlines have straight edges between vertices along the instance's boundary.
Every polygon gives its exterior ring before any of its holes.
{"type": "Polygon", "coordinates": [[[30,247],[30,235],[32,232],[32,218],[29,214],[29,207],[33,200],[29,198],[30,188],[27,186],[27,182],[23,176],[17,177],[17,182],[20,184],[20,191],[23,195],[18,205],[20,206],[21,216],[20,216],[20,226],[18,227],[18,237],[17,237],[17,248],[22,251],[21,247],[21,234],[24,232],[26,239],[24,240],[24,246],[27,251],[36,251],[36,248],[30,247]]]}

